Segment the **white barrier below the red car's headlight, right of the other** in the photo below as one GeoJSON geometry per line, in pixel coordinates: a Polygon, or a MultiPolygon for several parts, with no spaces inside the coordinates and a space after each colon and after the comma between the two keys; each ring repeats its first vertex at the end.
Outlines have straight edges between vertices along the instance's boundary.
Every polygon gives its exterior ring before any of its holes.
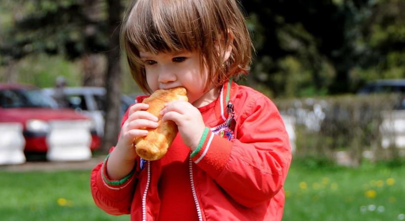
{"type": "Polygon", "coordinates": [[[48,160],[83,161],[91,158],[90,121],[51,121],[49,124],[48,160]]]}

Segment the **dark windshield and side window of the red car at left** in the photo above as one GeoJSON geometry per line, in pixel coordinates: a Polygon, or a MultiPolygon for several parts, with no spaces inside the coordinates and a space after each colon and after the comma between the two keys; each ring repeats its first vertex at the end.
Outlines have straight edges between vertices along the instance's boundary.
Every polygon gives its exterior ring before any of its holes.
{"type": "Polygon", "coordinates": [[[6,89],[0,91],[2,108],[55,108],[55,102],[39,90],[6,89]]]}

